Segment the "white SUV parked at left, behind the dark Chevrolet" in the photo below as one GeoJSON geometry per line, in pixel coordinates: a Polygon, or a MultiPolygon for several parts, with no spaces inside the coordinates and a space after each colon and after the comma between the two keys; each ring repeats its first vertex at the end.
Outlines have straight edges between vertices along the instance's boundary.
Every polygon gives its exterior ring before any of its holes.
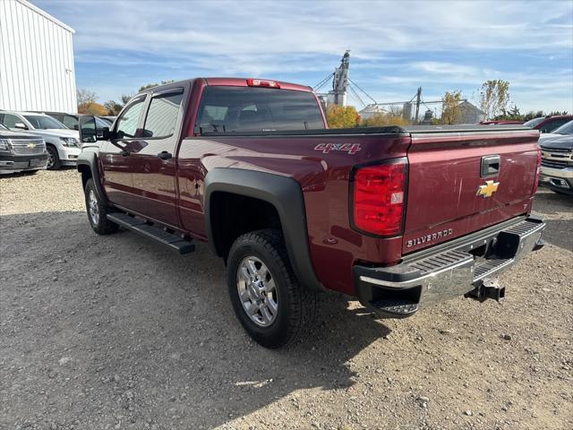
{"type": "Polygon", "coordinates": [[[81,152],[80,134],[44,114],[33,112],[0,111],[0,123],[10,130],[26,130],[46,142],[47,168],[75,166],[81,152]]]}

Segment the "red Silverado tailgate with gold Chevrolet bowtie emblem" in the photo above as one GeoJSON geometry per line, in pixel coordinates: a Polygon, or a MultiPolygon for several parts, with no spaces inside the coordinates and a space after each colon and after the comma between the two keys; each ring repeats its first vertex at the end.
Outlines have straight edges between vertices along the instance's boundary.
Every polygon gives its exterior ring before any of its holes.
{"type": "Polygon", "coordinates": [[[403,254],[530,211],[539,134],[411,133],[403,254]]]}

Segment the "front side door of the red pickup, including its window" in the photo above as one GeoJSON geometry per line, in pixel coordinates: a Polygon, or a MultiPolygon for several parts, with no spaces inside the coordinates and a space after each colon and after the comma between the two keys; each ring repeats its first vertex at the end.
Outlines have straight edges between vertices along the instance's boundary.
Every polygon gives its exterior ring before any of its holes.
{"type": "Polygon", "coordinates": [[[103,141],[99,150],[104,170],[104,188],[110,202],[133,209],[133,180],[130,150],[140,145],[138,129],[146,96],[133,99],[115,121],[117,139],[103,141]]]}

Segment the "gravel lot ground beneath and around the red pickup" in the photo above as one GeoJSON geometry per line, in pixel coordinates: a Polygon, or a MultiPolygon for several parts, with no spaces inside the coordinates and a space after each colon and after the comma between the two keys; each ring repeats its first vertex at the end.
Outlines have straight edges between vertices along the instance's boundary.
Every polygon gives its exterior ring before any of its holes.
{"type": "Polygon", "coordinates": [[[573,428],[573,199],[507,301],[379,320],[338,295],[282,350],[242,331],[223,263],[96,236],[73,170],[0,178],[0,428],[573,428]]]}

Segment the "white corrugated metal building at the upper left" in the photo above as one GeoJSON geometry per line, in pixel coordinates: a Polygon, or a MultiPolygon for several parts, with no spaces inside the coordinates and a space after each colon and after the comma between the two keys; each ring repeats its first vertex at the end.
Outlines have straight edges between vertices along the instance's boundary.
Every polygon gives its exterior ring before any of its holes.
{"type": "Polygon", "coordinates": [[[0,109],[77,112],[74,32],[26,0],[0,0],[0,109]]]}

